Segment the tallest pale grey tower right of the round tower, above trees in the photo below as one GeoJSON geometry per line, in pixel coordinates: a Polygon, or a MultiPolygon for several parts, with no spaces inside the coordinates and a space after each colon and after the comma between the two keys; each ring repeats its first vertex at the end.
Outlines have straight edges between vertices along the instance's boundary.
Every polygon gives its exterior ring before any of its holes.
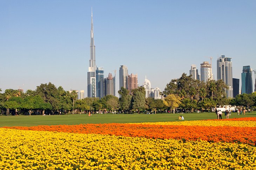
{"type": "Polygon", "coordinates": [[[230,57],[221,55],[217,59],[217,80],[222,79],[229,89],[225,89],[227,97],[233,97],[233,71],[230,57]]]}

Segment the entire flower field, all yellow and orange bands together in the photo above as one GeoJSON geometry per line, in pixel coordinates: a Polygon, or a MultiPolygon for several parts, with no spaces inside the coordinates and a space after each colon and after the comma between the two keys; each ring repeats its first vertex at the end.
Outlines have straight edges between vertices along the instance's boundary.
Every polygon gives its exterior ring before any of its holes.
{"type": "Polygon", "coordinates": [[[256,169],[256,119],[0,128],[0,169],[256,169]]]}

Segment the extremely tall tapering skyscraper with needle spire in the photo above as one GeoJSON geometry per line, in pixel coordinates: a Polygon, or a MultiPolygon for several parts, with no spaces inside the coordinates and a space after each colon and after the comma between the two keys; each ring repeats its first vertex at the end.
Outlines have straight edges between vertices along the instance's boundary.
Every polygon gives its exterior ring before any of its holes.
{"type": "Polygon", "coordinates": [[[90,42],[90,60],[87,73],[87,96],[96,97],[96,63],[95,63],[95,45],[93,34],[93,11],[92,11],[92,23],[91,23],[91,42],[90,42]]]}

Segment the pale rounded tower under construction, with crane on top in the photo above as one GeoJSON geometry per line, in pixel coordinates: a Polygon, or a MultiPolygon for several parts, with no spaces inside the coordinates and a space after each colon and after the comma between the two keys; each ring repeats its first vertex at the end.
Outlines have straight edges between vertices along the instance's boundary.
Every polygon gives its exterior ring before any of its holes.
{"type": "Polygon", "coordinates": [[[209,64],[208,61],[203,61],[200,67],[200,77],[201,81],[206,83],[208,80],[214,80],[213,79],[213,74],[211,71],[211,65],[209,64]]]}

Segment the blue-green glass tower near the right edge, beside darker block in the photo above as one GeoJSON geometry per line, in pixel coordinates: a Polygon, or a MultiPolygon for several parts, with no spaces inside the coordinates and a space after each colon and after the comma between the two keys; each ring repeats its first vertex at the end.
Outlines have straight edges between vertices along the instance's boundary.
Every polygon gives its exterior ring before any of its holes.
{"type": "Polygon", "coordinates": [[[252,93],[252,69],[250,66],[243,66],[241,93],[252,93]]]}

